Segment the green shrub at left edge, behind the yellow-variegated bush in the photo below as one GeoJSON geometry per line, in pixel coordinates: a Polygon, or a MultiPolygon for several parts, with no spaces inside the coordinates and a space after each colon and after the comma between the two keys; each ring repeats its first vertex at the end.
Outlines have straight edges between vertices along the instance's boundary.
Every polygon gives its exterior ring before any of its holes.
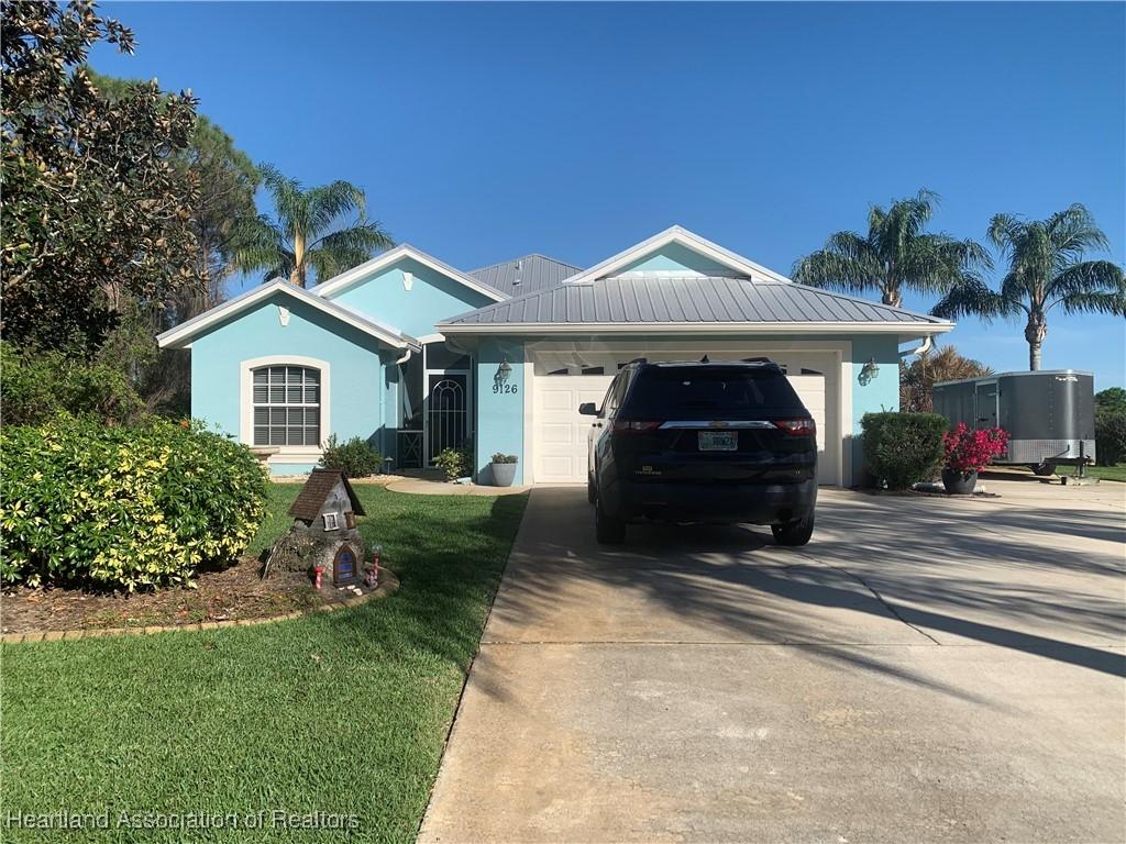
{"type": "Polygon", "coordinates": [[[120,370],[88,363],[62,352],[20,352],[3,345],[0,406],[3,423],[37,425],[59,413],[90,415],[100,422],[138,421],[145,405],[120,370]]]}

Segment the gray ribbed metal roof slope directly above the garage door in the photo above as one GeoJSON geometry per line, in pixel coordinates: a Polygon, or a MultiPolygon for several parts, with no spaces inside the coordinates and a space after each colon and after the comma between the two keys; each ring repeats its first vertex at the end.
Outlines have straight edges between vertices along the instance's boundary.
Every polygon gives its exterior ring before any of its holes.
{"type": "Polygon", "coordinates": [[[608,278],[558,285],[439,325],[644,325],[715,323],[933,323],[924,314],[789,281],[739,278],[608,278]]]}

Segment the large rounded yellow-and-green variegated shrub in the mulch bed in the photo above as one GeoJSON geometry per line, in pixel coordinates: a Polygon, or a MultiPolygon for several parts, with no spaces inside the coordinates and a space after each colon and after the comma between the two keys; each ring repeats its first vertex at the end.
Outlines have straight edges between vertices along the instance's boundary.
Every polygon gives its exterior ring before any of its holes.
{"type": "Polygon", "coordinates": [[[61,419],[0,431],[0,577],[99,589],[190,583],[247,547],[266,473],[187,422],[61,419]]]}

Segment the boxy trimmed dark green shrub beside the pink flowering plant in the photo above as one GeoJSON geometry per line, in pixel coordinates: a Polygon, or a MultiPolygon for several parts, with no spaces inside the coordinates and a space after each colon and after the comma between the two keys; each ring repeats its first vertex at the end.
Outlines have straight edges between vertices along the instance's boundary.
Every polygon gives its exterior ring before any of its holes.
{"type": "Polygon", "coordinates": [[[935,477],[948,422],[937,413],[865,413],[864,460],[878,486],[905,490],[935,477]]]}

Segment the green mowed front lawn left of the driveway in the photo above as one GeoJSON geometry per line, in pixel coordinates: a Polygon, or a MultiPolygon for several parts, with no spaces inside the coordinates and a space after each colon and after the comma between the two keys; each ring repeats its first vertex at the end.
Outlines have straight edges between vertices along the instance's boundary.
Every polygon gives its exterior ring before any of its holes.
{"type": "MultiPolygon", "coordinates": [[[[285,530],[298,490],[272,487],[254,549],[285,530]]],[[[6,646],[0,818],[108,810],[109,829],[0,819],[0,839],[413,841],[526,496],[357,491],[365,538],[402,580],[388,599],[244,629],[6,646]],[[265,832],[117,828],[123,811],[261,810],[265,832]],[[354,815],[356,828],[270,828],[274,810],[354,815]]]]}

